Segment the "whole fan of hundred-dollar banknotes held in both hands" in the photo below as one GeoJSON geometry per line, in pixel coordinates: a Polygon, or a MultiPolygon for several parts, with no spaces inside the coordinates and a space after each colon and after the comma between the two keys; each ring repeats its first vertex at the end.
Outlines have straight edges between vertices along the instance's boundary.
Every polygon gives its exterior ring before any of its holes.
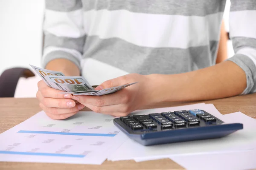
{"type": "Polygon", "coordinates": [[[90,95],[90,96],[102,96],[105,94],[111,94],[116,91],[122,90],[130,85],[134,85],[137,82],[133,82],[126,85],[121,85],[113,88],[106,88],[102,90],[95,90],[96,86],[91,86],[89,82],[81,76],[65,76],[59,71],[51,71],[43,68],[30,65],[35,72],[44,80],[44,82],[51,88],[61,90],[63,94],[73,95],[90,95]],[[94,88],[93,88],[94,87],[94,88]]]}

